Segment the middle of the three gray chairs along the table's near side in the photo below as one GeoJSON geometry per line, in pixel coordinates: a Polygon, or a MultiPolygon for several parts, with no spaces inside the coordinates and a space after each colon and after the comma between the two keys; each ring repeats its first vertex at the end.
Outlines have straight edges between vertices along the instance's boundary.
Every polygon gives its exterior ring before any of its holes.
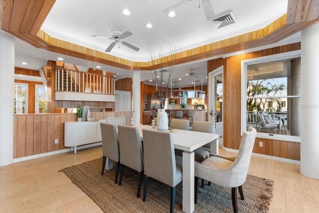
{"type": "Polygon", "coordinates": [[[118,125],[121,171],[119,186],[122,185],[124,167],[130,167],[139,173],[138,193],[140,197],[144,171],[144,154],[141,136],[137,127],[118,125]]]}

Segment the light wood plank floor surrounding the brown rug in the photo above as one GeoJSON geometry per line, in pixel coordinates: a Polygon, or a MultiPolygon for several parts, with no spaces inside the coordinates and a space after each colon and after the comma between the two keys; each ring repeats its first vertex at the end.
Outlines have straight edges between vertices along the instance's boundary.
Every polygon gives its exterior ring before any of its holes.
{"type": "MultiPolygon", "coordinates": [[[[221,149],[220,153],[229,154],[221,149]]],[[[1,167],[0,212],[102,212],[63,172],[58,172],[101,156],[99,146],[1,167]]],[[[319,180],[301,175],[300,166],[252,157],[248,174],[274,180],[269,213],[319,213],[319,180]]]]}

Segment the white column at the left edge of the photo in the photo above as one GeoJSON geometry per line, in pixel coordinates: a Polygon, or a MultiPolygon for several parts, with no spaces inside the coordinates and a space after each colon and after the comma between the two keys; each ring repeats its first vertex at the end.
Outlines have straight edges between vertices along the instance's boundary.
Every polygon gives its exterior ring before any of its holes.
{"type": "Polygon", "coordinates": [[[0,34],[0,166],[13,162],[14,38],[0,34]]]}

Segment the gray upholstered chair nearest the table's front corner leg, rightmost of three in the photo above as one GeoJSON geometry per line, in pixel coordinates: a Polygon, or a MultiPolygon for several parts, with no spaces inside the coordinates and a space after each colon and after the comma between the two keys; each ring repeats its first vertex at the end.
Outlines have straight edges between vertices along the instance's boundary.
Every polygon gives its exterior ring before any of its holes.
{"type": "Polygon", "coordinates": [[[149,187],[149,178],[170,186],[170,213],[174,211],[176,185],[182,181],[182,158],[175,156],[172,133],[143,129],[145,188],[143,201],[149,187]]]}

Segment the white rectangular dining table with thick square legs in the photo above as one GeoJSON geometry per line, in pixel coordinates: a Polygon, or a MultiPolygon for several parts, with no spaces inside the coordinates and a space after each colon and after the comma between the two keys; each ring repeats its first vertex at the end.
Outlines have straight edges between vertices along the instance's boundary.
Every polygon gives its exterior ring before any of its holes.
{"type": "MultiPolygon", "coordinates": [[[[142,130],[151,128],[148,125],[136,126],[139,129],[141,139],[143,140],[142,130]]],[[[183,151],[183,180],[182,180],[182,208],[185,213],[194,211],[194,150],[210,143],[210,152],[218,154],[218,135],[212,133],[187,131],[176,129],[172,133],[174,148],[183,151]]],[[[107,159],[107,169],[113,168],[113,162],[107,159]]]]}

